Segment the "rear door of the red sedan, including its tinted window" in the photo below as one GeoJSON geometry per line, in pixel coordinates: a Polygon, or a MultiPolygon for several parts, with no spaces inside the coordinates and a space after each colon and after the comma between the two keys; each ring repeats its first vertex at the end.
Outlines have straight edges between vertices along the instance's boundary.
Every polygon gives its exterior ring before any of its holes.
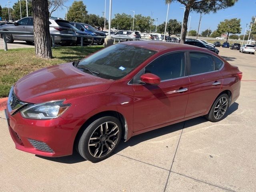
{"type": "Polygon", "coordinates": [[[190,92],[185,117],[206,112],[218,96],[222,74],[210,54],[190,52],[190,92]]]}

